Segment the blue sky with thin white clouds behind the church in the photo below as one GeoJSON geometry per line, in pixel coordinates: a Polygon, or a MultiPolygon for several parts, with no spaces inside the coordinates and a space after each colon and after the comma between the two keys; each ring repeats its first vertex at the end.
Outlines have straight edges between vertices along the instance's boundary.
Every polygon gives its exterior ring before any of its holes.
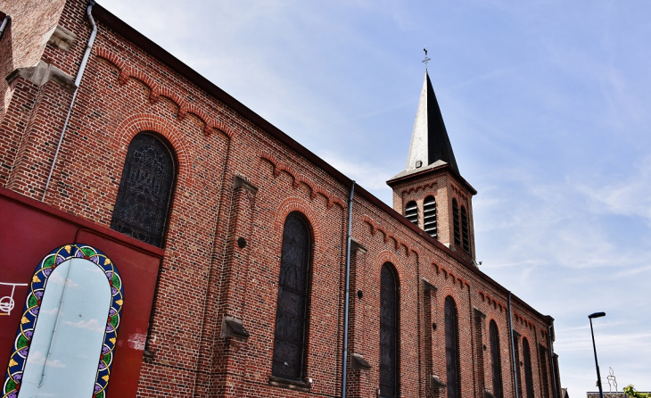
{"type": "Polygon", "coordinates": [[[651,3],[101,4],[391,204],[423,47],[482,270],[556,319],[563,386],[651,391],[651,3]]]}

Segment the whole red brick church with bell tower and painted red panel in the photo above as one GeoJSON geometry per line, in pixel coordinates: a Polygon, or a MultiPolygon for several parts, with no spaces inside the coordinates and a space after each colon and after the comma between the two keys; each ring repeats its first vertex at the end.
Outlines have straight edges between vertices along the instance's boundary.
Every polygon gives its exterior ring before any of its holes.
{"type": "Polygon", "coordinates": [[[1,398],[560,396],[426,73],[391,208],[100,4],[0,21],[1,398]]]}

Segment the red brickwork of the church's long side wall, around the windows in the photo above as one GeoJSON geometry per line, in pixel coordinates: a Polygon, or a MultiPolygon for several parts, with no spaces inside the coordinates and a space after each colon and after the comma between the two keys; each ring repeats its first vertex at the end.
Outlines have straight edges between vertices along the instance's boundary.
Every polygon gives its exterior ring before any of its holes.
{"type": "MultiPolygon", "coordinates": [[[[84,12],[80,0],[70,0],[63,11],[62,24],[78,35],[70,52],[45,49],[49,62],[73,76],[89,34],[84,12]]],[[[98,25],[45,202],[109,226],[130,140],[140,131],[152,131],[175,152],[177,180],[148,344],[153,355],[144,361],[138,396],[340,394],[349,187],[105,22],[98,25]],[[306,327],[305,374],[313,379],[309,392],[269,386],[282,231],[292,211],[305,215],[314,236],[306,327]],[[243,249],[236,245],[241,236],[248,242],[243,249]],[[251,336],[223,336],[224,316],[242,320],[251,336]]],[[[44,87],[15,83],[8,108],[12,116],[7,113],[1,120],[12,142],[19,143],[15,146],[22,145],[20,156],[0,145],[0,159],[17,159],[12,172],[0,170],[1,181],[33,197],[40,197],[45,187],[66,111],[59,104],[68,101],[60,87],[44,87]],[[30,103],[25,115],[23,104],[30,103]]],[[[451,235],[449,222],[442,221],[451,219],[452,197],[463,194],[474,236],[471,195],[454,178],[437,178],[433,187],[444,197],[437,196],[440,234],[451,235]]],[[[422,210],[424,191],[413,195],[420,198],[422,210]]],[[[488,373],[479,374],[476,363],[475,336],[483,333],[484,344],[488,336],[487,330],[475,328],[476,307],[487,316],[484,328],[490,319],[498,323],[505,396],[513,396],[504,289],[474,269],[468,262],[473,255],[459,257],[434,245],[359,195],[353,206],[352,236],[367,253],[358,252],[353,264],[349,350],[363,354],[372,369],[350,372],[351,395],[375,396],[379,384],[380,268],[390,261],[400,286],[400,395],[432,394],[426,389],[430,372],[445,381],[443,304],[450,295],[459,313],[463,395],[476,396],[480,378],[491,386],[490,356],[483,358],[488,373]],[[426,299],[423,279],[436,287],[426,299]],[[354,295],[358,290],[361,300],[354,295]],[[429,330],[433,322],[439,328],[429,330]]],[[[540,329],[547,328],[548,320],[529,307],[515,308],[529,322],[526,328],[522,322],[515,327],[532,336],[536,375],[536,347],[547,344],[540,329]]],[[[535,388],[540,395],[540,383],[535,388]]]]}

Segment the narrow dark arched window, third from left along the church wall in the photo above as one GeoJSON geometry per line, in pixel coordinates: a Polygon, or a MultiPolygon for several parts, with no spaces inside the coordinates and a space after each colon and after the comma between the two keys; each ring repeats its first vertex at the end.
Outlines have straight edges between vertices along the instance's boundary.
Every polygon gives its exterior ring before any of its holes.
{"type": "Polygon", "coordinates": [[[380,396],[398,396],[398,286],[391,263],[380,276],[380,396]]]}

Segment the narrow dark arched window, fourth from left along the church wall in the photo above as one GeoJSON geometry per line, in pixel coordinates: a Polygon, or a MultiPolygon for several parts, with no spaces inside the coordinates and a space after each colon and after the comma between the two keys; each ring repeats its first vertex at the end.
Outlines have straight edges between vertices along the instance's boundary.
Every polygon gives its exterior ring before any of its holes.
{"type": "Polygon", "coordinates": [[[457,304],[451,296],[448,296],[445,299],[445,363],[448,373],[448,398],[461,396],[458,326],[457,304]]]}

